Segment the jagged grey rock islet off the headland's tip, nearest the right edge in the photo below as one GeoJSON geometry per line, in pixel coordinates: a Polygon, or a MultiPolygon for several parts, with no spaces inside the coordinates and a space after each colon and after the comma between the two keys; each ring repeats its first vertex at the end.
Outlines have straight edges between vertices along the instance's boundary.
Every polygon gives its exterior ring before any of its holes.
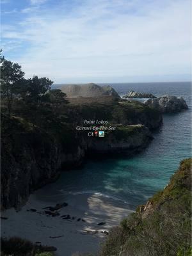
{"type": "Polygon", "coordinates": [[[161,113],[174,113],[182,109],[188,109],[186,101],[182,97],[164,95],[157,99],[148,99],[144,102],[145,105],[158,109],[161,113]]]}

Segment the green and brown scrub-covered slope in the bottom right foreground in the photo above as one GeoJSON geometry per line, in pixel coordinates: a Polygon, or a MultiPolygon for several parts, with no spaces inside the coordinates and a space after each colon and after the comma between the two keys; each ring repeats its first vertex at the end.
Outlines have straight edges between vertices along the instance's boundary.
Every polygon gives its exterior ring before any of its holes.
{"type": "Polygon", "coordinates": [[[191,159],[170,183],[113,228],[101,256],[191,255],[191,159]]]}

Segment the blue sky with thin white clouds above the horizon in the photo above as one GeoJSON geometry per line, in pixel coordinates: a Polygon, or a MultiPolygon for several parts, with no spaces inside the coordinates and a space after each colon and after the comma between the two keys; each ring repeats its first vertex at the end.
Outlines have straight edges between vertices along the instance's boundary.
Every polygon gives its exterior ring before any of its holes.
{"type": "Polygon", "coordinates": [[[191,80],[190,0],[1,0],[1,48],[54,83],[191,80]]]}

